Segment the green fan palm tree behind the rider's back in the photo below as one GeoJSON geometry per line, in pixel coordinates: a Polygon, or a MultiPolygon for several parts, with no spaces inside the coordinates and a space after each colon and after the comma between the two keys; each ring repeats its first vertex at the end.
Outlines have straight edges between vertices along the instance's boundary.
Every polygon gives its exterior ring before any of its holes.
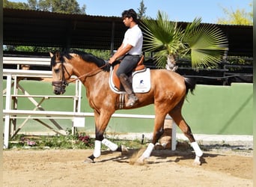
{"type": "Polygon", "coordinates": [[[215,25],[201,24],[195,18],[183,29],[177,22],[170,22],[168,15],[158,11],[156,20],[143,19],[144,49],[154,52],[158,67],[175,68],[177,55],[191,56],[192,68],[213,67],[228,50],[228,40],[215,25]]]}

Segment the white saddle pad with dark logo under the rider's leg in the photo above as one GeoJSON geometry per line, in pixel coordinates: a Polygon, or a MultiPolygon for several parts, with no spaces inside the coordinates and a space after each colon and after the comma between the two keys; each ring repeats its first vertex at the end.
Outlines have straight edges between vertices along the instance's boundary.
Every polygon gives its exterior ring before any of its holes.
{"type": "MultiPolygon", "coordinates": [[[[110,70],[109,86],[115,93],[125,93],[121,91],[121,83],[115,75],[115,68],[110,70]]],[[[134,93],[147,93],[150,91],[150,69],[144,68],[132,72],[132,90],[134,93]]]]}

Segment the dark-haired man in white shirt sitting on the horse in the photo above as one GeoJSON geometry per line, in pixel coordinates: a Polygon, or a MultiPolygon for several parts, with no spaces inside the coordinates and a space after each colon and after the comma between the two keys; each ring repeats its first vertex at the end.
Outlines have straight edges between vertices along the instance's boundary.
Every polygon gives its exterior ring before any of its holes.
{"type": "Polygon", "coordinates": [[[121,64],[117,70],[117,76],[120,79],[124,90],[128,93],[127,107],[131,107],[138,100],[137,96],[132,92],[132,85],[128,81],[127,74],[136,67],[138,61],[141,58],[143,36],[141,29],[138,27],[137,13],[135,10],[124,10],[122,13],[124,25],[128,30],[124,34],[124,40],[118,51],[115,52],[111,58],[109,58],[109,64],[115,62],[118,58],[121,58],[121,64]]]}

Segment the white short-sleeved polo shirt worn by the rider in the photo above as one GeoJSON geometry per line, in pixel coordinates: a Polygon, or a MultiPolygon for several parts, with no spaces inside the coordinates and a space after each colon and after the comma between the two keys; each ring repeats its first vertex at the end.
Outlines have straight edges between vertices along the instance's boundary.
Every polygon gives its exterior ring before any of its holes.
{"type": "Polygon", "coordinates": [[[132,28],[129,28],[124,34],[124,47],[127,46],[127,43],[132,47],[129,50],[129,55],[141,55],[143,35],[141,28],[138,25],[134,25],[132,28]]]}

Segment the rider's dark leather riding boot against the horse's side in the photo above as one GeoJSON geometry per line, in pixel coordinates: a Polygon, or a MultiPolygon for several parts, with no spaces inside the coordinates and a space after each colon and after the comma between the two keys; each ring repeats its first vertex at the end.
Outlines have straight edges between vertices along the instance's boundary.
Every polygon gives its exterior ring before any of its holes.
{"type": "Polygon", "coordinates": [[[124,73],[122,73],[119,76],[120,82],[124,87],[124,90],[127,92],[128,94],[128,101],[126,103],[127,107],[132,107],[132,105],[135,104],[135,102],[138,100],[138,97],[135,96],[134,93],[132,93],[132,85],[128,82],[128,77],[127,75],[125,75],[124,73]]]}

